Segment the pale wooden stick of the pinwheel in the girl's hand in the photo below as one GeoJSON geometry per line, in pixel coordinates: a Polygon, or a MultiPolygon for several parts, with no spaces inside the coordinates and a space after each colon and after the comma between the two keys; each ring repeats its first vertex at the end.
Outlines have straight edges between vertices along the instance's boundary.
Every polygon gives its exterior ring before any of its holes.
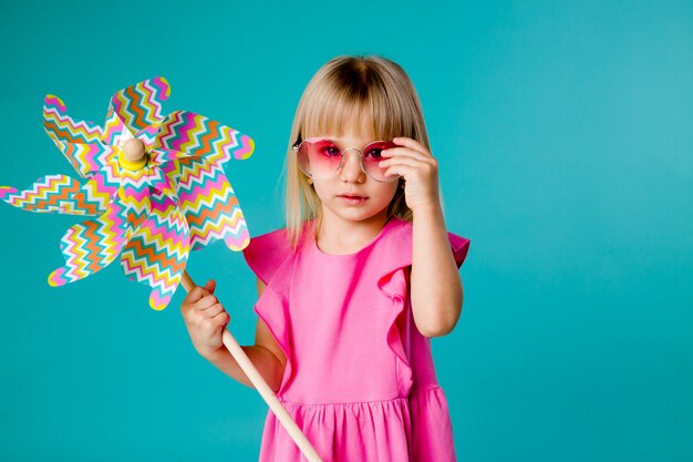
{"type": "MultiPolygon", "coordinates": [[[[183,273],[183,279],[180,280],[180,284],[188,292],[195,288],[195,283],[187,274],[187,271],[183,273]]],[[[310,444],[303,432],[301,432],[301,429],[299,429],[299,427],[296,424],[289,412],[281,404],[272,389],[269,388],[262,376],[260,376],[260,372],[258,372],[258,370],[256,369],[252,361],[250,361],[250,358],[248,358],[248,355],[246,355],[244,349],[240,347],[240,345],[238,345],[238,341],[236,341],[236,339],[228,329],[224,329],[223,340],[224,346],[229,350],[234,359],[236,359],[236,362],[238,362],[238,366],[240,366],[246,376],[248,376],[248,379],[256,388],[256,390],[258,390],[265,402],[267,402],[269,409],[271,409],[275,415],[277,415],[277,419],[287,430],[289,437],[291,437],[293,442],[296,442],[296,444],[301,450],[301,453],[303,453],[303,456],[308,459],[309,462],[322,462],[322,459],[320,459],[318,452],[316,452],[312,444],[310,444]]]]}

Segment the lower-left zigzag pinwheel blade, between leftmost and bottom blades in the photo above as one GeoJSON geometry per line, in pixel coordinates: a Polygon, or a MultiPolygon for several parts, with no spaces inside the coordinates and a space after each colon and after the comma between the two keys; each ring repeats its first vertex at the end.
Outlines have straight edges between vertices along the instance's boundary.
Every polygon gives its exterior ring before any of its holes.
{"type": "Polygon", "coordinates": [[[51,273],[49,284],[63,286],[108,266],[148,214],[147,199],[139,198],[138,205],[133,206],[127,192],[116,194],[102,216],[70,227],[61,240],[65,265],[51,273]]]}

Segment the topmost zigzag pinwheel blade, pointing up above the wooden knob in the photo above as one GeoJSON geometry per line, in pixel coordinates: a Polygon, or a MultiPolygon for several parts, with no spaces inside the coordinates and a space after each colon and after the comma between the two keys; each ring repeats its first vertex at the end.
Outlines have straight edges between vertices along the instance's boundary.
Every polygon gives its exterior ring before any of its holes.
{"type": "Polygon", "coordinates": [[[111,103],[125,126],[135,134],[163,120],[162,103],[169,94],[168,81],[158,76],[116,92],[111,103]]]}

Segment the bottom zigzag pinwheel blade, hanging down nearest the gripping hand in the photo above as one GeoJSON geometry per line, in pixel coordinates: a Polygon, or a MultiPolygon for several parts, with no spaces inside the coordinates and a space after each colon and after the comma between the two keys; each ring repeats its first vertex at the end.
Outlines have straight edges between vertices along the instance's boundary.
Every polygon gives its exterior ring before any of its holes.
{"type": "Polygon", "coordinates": [[[183,277],[189,253],[189,229],[180,208],[165,194],[152,193],[152,213],[121,255],[131,280],[152,287],[149,306],[168,306],[183,277]]]}

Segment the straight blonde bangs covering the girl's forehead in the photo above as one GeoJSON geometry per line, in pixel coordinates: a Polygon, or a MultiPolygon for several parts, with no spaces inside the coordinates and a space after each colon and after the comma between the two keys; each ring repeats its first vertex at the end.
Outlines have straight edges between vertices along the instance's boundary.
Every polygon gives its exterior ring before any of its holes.
{"type": "Polygon", "coordinates": [[[352,127],[373,140],[412,137],[415,121],[406,116],[412,111],[403,92],[392,91],[392,85],[387,91],[382,73],[368,65],[348,64],[351,65],[333,69],[321,85],[311,89],[301,117],[300,138],[342,136],[352,127]]]}

